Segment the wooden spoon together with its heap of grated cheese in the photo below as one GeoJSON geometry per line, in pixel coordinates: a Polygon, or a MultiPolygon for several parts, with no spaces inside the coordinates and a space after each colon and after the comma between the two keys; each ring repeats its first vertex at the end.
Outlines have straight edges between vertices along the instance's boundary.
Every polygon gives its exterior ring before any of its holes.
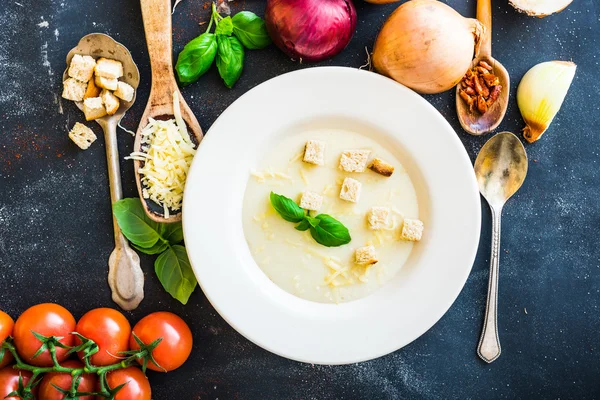
{"type": "Polygon", "coordinates": [[[146,214],[156,222],[171,223],[181,221],[187,172],[203,134],[173,74],[171,1],[141,0],[141,6],[152,88],[128,158],[134,160],[146,214]]]}

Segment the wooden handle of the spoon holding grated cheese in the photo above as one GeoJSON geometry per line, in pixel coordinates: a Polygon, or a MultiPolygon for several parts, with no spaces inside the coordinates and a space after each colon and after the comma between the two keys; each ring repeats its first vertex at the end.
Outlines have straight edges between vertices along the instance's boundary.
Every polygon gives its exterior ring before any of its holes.
{"type": "Polygon", "coordinates": [[[152,67],[152,89],[149,104],[173,103],[177,89],[173,75],[173,40],[171,0],[141,0],[142,19],[152,67]]]}

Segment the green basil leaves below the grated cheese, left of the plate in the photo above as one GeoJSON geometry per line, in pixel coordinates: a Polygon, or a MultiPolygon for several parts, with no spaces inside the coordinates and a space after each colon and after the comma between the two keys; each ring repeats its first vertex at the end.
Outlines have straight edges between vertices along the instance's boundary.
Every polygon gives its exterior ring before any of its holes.
{"type": "Polygon", "coordinates": [[[154,271],[165,290],[186,304],[197,282],[183,241],[181,222],[160,224],[152,221],[139,198],[122,199],[113,204],[113,214],[123,235],[136,250],[145,254],[160,254],[154,271]]]}

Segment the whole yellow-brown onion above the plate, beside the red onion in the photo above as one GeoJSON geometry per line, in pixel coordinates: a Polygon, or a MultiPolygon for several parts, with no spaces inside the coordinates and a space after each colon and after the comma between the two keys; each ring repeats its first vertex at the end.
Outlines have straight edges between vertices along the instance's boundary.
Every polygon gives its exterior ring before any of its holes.
{"type": "Polygon", "coordinates": [[[379,32],[373,66],[419,93],[444,92],[470,68],[484,29],[437,0],[410,0],[379,32]]]}

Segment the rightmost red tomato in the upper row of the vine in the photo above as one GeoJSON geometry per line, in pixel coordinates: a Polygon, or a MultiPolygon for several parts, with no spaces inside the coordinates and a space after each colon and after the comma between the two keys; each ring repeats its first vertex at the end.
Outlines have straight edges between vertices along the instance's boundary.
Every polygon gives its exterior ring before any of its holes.
{"type": "MultiPolygon", "coordinates": [[[[168,372],[181,367],[192,352],[192,331],[184,320],[170,312],[156,312],[142,318],[133,327],[133,333],[145,344],[158,338],[162,341],[152,352],[158,366],[148,362],[148,368],[154,371],[168,372]]],[[[139,349],[140,345],[133,337],[129,339],[129,347],[139,349]]],[[[138,360],[141,363],[141,360],[138,360]]]]}

